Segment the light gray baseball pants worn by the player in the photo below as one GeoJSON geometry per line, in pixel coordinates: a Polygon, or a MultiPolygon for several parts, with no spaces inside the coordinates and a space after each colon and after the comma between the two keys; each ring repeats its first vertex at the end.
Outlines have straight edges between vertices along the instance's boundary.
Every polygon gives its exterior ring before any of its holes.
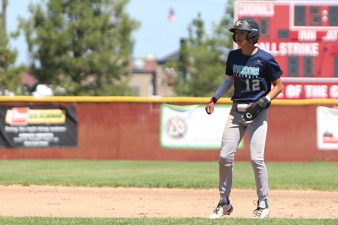
{"type": "Polygon", "coordinates": [[[233,105],[226,121],[219,155],[219,192],[221,197],[230,196],[233,166],[237,147],[245,132],[248,135],[249,157],[254,169],[257,195],[260,200],[268,196],[268,173],[264,163],[264,148],[268,129],[268,109],[263,109],[252,121],[246,121],[243,112],[233,105]]]}

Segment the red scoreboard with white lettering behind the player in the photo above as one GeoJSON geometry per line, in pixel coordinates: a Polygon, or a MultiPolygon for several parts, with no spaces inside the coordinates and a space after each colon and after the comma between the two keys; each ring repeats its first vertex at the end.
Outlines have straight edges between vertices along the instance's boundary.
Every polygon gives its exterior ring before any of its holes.
{"type": "Polygon", "coordinates": [[[258,22],[256,46],[283,69],[280,99],[338,99],[338,1],[235,1],[239,18],[258,22]]]}

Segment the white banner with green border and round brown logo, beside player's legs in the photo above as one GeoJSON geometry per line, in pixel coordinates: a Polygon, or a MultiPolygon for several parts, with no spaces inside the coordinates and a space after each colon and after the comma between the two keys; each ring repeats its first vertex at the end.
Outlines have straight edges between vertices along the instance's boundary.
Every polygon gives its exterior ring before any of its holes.
{"type": "MultiPolygon", "coordinates": [[[[161,105],[162,147],[220,149],[231,105],[217,105],[208,115],[203,105],[161,105]]],[[[243,145],[240,144],[239,148],[243,145]]]]}

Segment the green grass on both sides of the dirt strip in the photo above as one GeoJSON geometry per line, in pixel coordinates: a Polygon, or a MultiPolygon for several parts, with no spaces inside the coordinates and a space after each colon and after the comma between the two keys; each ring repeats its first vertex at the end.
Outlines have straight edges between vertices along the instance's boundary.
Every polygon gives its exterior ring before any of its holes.
{"type": "MultiPolygon", "coordinates": [[[[267,162],[271,190],[338,191],[338,163],[267,162]]],[[[235,162],[233,188],[254,189],[249,162],[235,162]]],[[[218,188],[217,162],[177,161],[0,161],[0,185],[84,187],[218,188]]],[[[1,208],[0,208],[1,215],[1,208]]],[[[0,224],[338,224],[338,219],[227,218],[50,218],[0,217],[0,224]]]]}

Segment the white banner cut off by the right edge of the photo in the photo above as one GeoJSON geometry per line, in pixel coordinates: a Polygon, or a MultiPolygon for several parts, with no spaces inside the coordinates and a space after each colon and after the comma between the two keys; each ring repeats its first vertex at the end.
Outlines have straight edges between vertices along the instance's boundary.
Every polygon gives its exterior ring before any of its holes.
{"type": "Polygon", "coordinates": [[[320,150],[338,150],[338,109],[318,106],[317,147],[320,150]]]}

